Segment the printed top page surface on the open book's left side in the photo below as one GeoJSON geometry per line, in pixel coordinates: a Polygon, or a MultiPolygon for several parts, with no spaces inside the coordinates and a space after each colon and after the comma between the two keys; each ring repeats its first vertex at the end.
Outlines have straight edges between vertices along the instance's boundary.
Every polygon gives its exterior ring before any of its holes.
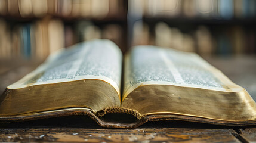
{"type": "Polygon", "coordinates": [[[78,43],[50,55],[44,64],[8,89],[98,79],[110,83],[120,96],[122,52],[109,40],[78,43]]]}

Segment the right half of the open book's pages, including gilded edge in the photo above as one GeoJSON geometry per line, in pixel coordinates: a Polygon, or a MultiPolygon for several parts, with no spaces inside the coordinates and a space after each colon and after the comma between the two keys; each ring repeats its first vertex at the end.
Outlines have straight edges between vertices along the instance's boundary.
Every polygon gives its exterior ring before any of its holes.
{"type": "Polygon", "coordinates": [[[199,55],[135,46],[125,56],[122,107],[140,114],[182,114],[217,120],[254,120],[248,92],[199,55]]]}

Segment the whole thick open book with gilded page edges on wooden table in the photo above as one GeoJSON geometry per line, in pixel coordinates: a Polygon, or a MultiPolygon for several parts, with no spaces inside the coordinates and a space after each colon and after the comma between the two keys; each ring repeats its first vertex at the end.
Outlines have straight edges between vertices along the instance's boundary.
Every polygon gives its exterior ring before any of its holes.
{"type": "Polygon", "coordinates": [[[197,54],[147,45],[122,58],[108,40],[55,52],[8,86],[0,102],[1,122],[87,114],[115,128],[149,120],[256,125],[256,104],[248,92],[197,54]],[[137,121],[102,120],[106,113],[131,114],[137,121]]]}

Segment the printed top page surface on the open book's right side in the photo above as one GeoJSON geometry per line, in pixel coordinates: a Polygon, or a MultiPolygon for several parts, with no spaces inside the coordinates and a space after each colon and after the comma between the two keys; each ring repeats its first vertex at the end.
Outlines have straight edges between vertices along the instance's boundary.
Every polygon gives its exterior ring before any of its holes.
{"type": "Polygon", "coordinates": [[[124,92],[144,85],[176,85],[216,91],[241,91],[199,55],[157,46],[135,46],[125,57],[124,92]]]}

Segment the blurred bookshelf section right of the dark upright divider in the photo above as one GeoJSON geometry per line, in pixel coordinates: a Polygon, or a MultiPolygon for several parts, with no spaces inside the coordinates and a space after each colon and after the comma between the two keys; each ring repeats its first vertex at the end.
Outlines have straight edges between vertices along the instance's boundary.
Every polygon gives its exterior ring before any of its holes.
{"type": "Polygon", "coordinates": [[[229,56],[256,52],[256,1],[129,2],[131,45],[166,46],[201,55],[229,56]]]}

